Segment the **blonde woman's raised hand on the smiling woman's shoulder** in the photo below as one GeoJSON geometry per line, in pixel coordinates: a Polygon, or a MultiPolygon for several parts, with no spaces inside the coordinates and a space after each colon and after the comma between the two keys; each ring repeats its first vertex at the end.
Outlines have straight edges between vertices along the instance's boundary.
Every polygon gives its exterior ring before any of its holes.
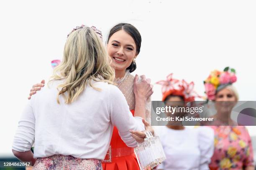
{"type": "Polygon", "coordinates": [[[151,80],[146,78],[145,75],[141,76],[141,82],[138,82],[138,75],[135,76],[133,81],[133,93],[135,98],[142,98],[147,100],[153,94],[153,85],[150,84],[151,80]]]}

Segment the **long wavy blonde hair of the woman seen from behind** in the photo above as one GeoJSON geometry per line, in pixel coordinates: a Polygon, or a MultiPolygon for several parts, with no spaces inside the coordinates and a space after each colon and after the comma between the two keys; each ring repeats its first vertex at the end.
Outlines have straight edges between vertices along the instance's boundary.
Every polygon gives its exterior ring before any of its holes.
{"type": "Polygon", "coordinates": [[[64,80],[64,83],[57,87],[58,90],[61,88],[57,102],[60,103],[59,96],[64,95],[65,103],[69,104],[77,99],[85,90],[86,85],[93,87],[91,80],[113,84],[114,78],[115,72],[110,67],[110,57],[108,57],[105,46],[95,31],[86,27],[75,30],[68,36],[63,60],[54,68],[49,82],[64,80]]]}

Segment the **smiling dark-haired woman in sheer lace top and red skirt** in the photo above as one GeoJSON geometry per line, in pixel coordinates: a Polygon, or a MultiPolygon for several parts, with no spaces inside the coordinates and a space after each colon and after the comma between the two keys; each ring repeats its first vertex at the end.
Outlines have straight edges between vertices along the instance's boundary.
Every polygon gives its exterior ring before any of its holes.
{"type": "MultiPolygon", "coordinates": [[[[140,52],[140,48],[141,35],[133,25],[120,23],[110,30],[107,40],[107,52],[112,60],[111,66],[115,69],[115,83],[123,92],[133,116],[136,116],[136,112],[146,112],[146,117],[144,118],[146,118],[148,122],[151,122],[150,99],[147,100],[146,106],[139,105],[136,102],[137,99],[133,92],[139,90],[133,89],[135,77],[131,75],[131,72],[136,69],[135,60],[140,52]]],[[[145,76],[142,77],[145,79],[145,76]]],[[[147,80],[148,83],[150,83],[150,80],[147,80]]],[[[40,87],[43,87],[43,83],[34,85],[31,89],[30,96],[35,94],[35,91],[39,90],[40,87]]],[[[125,145],[116,127],[114,127],[113,130],[109,151],[105,160],[102,161],[102,167],[103,170],[140,169],[133,148],[125,145]]]]}

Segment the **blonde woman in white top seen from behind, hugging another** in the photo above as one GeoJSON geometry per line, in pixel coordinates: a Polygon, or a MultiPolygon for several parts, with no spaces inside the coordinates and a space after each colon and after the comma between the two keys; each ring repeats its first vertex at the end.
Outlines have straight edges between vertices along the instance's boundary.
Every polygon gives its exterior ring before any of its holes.
{"type": "MultiPolygon", "coordinates": [[[[84,26],[68,35],[48,88],[33,96],[23,111],[13,153],[35,163],[34,169],[101,169],[113,126],[126,145],[137,145],[129,130],[144,130],[145,112],[128,114],[125,97],[112,85],[114,70],[97,35],[96,28],[84,26]]],[[[137,88],[138,102],[145,106],[151,86],[142,80],[137,88]]]]}

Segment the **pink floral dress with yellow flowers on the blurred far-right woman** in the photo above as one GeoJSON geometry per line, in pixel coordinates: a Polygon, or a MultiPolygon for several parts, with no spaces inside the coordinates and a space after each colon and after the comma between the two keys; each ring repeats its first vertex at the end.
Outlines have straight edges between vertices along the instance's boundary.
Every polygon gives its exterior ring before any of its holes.
{"type": "Polygon", "coordinates": [[[215,132],[211,170],[242,170],[253,166],[251,137],[245,126],[209,126],[215,132]]]}

